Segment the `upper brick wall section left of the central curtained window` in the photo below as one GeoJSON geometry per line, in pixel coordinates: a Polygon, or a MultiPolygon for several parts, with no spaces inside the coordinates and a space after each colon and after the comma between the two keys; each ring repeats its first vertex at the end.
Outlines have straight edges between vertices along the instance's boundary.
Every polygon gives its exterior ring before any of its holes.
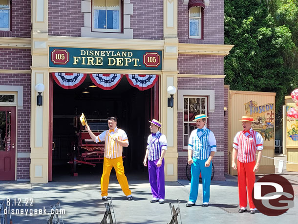
{"type": "Polygon", "coordinates": [[[81,0],[49,0],[48,21],[49,35],[81,37],[84,26],[81,0]]]}

